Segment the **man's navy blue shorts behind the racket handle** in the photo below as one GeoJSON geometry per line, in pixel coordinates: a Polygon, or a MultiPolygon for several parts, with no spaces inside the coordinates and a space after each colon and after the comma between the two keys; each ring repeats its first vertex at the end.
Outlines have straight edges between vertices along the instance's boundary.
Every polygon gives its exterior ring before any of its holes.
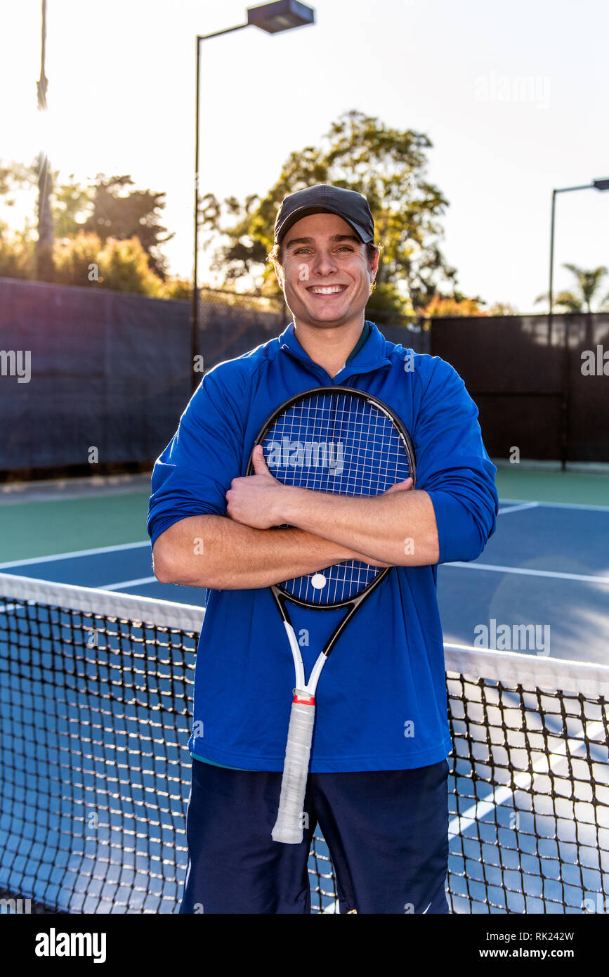
{"type": "Polygon", "coordinates": [[[341,913],[448,913],[448,763],[309,774],[303,842],[273,841],[281,774],[192,761],[181,913],[310,913],[319,825],[341,913]]]}

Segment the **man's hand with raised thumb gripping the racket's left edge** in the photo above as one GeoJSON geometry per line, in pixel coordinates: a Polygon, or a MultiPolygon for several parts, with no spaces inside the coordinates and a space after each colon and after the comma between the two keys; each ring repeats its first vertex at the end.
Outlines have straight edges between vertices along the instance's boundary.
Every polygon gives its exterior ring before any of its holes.
{"type": "Polygon", "coordinates": [[[270,474],[262,445],[254,448],[252,460],[256,474],[232,480],[226,492],[226,509],[235,523],[269,530],[285,522],[281,516],[281,499],[291,488],[281,485],[270,474]]]}

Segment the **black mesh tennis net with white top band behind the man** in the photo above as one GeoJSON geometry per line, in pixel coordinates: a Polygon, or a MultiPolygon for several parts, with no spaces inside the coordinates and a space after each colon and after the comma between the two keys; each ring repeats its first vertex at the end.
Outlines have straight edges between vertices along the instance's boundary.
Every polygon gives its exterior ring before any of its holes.
{"type": "MultiPolygon", "coordinates": [[[[204,613],[0,573],[0,900],[177,911],[204,613]]],[[[609,666],[445,658],[451,911],[609,910],[609,666]]],[[[318,835],[308,871],[338,912],[318,835]]]]}

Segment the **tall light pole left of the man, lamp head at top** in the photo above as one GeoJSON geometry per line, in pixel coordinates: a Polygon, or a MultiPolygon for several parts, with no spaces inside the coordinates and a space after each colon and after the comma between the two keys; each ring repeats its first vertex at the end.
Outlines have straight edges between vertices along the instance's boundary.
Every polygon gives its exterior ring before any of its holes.
{"type": "Polygon", "coordinates": [[[303,27],[307,23],[315,22],[315,11],[297,0],[278,0],[275,3],[265,3],[259,7],[249,7],[247,21],[236,27],[226,27],[216,30],[213,34],[197,34],[196,38],[196,94],[195,94],[195,123],[194,123],[194,256],[192,263],[192,312],[191,312],[191,363],[192,391],[198,386],[195,371],[197,356],[197,337],[199,327],[199,286],[198,286],[198,250],[199,250],[199,110],[200,110],[200,67],[201,41],[221,34],[230,34],[234,30],[254,26],[265,30],[267,34],[278,34],[284,30],[303,27]]]}

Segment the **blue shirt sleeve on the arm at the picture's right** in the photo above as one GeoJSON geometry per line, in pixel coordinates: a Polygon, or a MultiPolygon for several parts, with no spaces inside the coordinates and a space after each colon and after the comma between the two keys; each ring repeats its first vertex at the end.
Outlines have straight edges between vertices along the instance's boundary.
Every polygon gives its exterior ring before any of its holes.
{"type": "Polygon", "coordinates": [[[497,525],[497,469],[459,373],[438,358],[429,362],[415,404],[417,488],[428,493],[435,512],[438,562],[475,560],[497,525]]]}

